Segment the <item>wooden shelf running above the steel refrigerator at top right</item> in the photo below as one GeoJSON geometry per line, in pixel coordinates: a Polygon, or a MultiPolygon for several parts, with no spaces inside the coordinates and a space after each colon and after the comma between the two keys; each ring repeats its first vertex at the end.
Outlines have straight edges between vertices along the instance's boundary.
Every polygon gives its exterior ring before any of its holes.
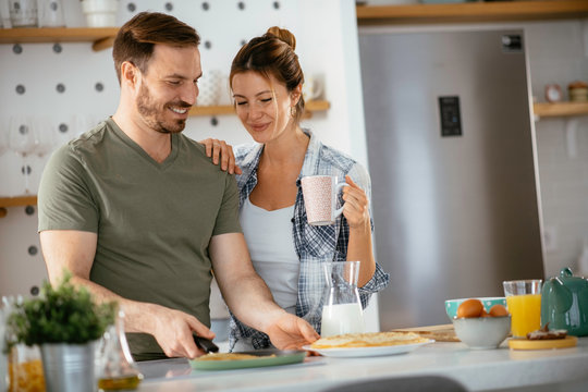
{"type": "Polygon", "coordinates": [[[542,21],[588,16],[586,0],[534,0],[451,4],[357,5],[357,24],[542,21]]]}

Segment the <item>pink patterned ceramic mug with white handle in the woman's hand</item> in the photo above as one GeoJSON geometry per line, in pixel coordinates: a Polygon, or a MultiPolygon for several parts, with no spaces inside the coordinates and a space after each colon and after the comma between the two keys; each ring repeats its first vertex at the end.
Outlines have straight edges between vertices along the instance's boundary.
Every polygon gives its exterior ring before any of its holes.
{"type": "Polygon", "coordinates": [[[343,207],[336,209],[336,198],[339,191],[350,185],[336,181],[332,175],[309,175],[301,180],[308,224],[333,224],[343,212],[343,207]]]}

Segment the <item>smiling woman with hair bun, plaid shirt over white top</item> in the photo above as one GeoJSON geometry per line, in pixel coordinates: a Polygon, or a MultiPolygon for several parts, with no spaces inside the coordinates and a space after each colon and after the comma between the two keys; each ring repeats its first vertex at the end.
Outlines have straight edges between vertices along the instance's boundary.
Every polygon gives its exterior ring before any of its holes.
{"type": "MultiPolygon", "coordinates": [[[[275,302],[320,331],[317,287],[311,284],[313,273],[322,278],[317,262],[359,260],[364,307],[389,277],[373,258],[369,174],[299,125],[304,75],[295,45],[289,30],[271,27],[243,46],[231,66],[236,114],[257,142],[235,148],[242,171],[240,218],[252,261],[275,302]],[[343,189],[343,218],[335,224],[311,226],[306,220],[301,179],[316,174],[335,175],[350,185],[343,189]]],[[[267,335],[234,317],[230,340],[233,351],[271,346],[267,335]]]]}

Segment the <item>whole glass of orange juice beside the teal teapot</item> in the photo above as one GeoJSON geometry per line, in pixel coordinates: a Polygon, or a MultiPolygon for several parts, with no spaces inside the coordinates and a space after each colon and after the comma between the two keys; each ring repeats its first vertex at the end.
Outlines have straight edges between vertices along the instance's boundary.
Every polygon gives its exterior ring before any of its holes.
{"type": "Polygon", "coordinates": [[[513,336],[526,338],[541,328],[541,279],[502,282],[513,336]]]}

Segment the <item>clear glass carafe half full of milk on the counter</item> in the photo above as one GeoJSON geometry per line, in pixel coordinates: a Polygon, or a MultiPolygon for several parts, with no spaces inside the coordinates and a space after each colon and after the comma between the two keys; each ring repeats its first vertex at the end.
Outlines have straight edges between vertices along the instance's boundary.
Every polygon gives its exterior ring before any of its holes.
{"type": "Polygon", "coordinates": [[[364,311],[357,291],[359,261],[323,264],[328,291],[322,306],[321,336],[365,332],[364,311]]]}

